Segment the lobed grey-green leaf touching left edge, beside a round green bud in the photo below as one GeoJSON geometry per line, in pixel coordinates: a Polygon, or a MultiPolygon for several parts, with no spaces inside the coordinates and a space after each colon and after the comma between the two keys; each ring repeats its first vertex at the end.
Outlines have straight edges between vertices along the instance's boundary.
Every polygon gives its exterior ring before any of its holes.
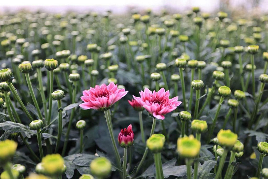
{"type": "Polygon", "coordinates": [[[27,126],[24,126],[23,124],[19,124],[19,123],[10,122],[10,121],[0,123],[0,127],[4,131],[10,130],[12,134],[15,132],[23,132],[28,138],[30,138],[31,135],[35,134],[35,132],[30,130],[27,126]]]}

